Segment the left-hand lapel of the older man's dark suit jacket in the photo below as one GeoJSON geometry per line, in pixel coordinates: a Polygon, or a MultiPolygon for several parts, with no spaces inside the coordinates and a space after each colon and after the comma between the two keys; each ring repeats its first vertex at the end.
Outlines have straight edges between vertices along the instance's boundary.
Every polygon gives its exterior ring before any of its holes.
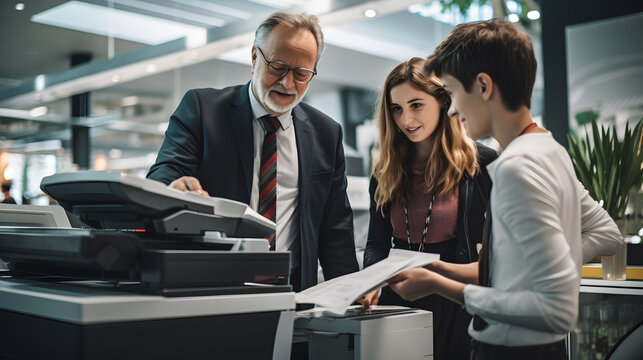
{"type": "MultiPolygon", "coordinates": [[[[232,101],[232,106],[228,111],[228,120],[232,127],[232,137],[237,143],[237,150],[245,176],[245,185],[248,202],[250,202],[250,192],[252,186],[252,167],[253,167],[253,149],[254,136],[252,133],[252,110],[250,108],[250,99],[248,98],[248,86],[250,83],[242,86],[232,101]]],[[[234,161],[231,159],[231,161],[234,161]]]]}

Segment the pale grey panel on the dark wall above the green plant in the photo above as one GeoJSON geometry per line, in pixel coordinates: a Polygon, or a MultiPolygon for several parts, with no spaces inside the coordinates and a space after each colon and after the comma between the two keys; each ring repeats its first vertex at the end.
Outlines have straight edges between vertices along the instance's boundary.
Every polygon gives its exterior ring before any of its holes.
{"type": "Polygon", "coordinates": [[[643,13],[566,29],[570,128],[594,110],[618,127],[643,115],[643,13]]]}

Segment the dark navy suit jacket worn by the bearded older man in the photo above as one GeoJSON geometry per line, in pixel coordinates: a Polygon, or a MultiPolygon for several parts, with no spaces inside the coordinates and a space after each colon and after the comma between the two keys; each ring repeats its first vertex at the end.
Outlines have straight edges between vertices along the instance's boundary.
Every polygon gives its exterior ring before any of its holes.
{"type": "MultiPolygon", "coordinates": [[[[148,178],[169,184],[194,176],[210,196],[250,203],[252,111],[248,86],[189,90],[170,118],[148,178]]],[[[292,111],[299,164],[301,288],[358,270],[346,195],[341,126],[300,103],[292,111]]]]}

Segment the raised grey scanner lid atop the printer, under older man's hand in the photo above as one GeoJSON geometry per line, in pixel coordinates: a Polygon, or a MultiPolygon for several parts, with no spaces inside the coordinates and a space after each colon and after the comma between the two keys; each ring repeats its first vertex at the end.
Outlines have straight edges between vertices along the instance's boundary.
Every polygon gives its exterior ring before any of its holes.
{"type": "Polygon", "coordinates": [[[40,188],[98,229],[177,235],[221,231],[235,237],[270,237],[276,228],[244,203],[179,191],[118,172],[58,173],[43,178],[40,188]]]}

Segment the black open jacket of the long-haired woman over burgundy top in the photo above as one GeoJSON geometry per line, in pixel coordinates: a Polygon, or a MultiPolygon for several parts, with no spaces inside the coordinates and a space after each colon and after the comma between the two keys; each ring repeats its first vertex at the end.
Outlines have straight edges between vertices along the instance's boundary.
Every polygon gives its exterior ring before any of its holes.
{"type": "MultiPolygon", "coordinates": [[[[458,220],[456,223],[456,251],[457,263],[470,263],[478,260],[476,244],[482,242],[482,226],[484,213],[487,210],[491,179],[487,172],[487,165],[494,161],[498,154],[491,148],[476,143],[478,148],[478,163],[480,172],[473,178],[465,176],[460,181],[460,194],[458,199],[458,220]]],[[[391,250],[393,227],[391,226],[390,205],[384,204],[383,212],[377,210],[375,203],[375,190],[377,180],[371,177],[369,192],[371,195],[370,223],[368,228],[368,241],[364,251],[364,266],[388,257],[391,250]]]]}

